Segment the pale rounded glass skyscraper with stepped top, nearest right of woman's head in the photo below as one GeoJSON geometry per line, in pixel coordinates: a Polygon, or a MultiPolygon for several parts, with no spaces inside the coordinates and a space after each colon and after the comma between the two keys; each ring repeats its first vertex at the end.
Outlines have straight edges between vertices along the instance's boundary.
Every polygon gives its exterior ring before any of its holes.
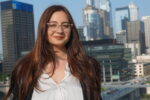
{"type": "Polygon", "coordinates": [[[86,8],[83,9],[83,16],[86,40],[101,39],[100,15],[98,9],[94,7],[94,0],[87,0],[86,8]]]}

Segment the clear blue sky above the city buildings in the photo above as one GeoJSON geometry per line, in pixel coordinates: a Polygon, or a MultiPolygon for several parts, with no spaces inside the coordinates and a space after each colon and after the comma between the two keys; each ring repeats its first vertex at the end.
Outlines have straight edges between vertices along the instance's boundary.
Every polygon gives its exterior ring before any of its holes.
{"type": "MultiPolygon", "coordinates": [[[[0,1],[6,1],[6,0],[0,0],[0,1]]],[[[53,5],[53,4],[61,4],[61,5],[66,6],[71,12],[76,25],[77,26],[83,25],[82,10],[86,6],[86,0],[16,0],[16,1],[29,3],[34,6],[35,32],[37,32],[38,21],[42,12],[48,6],[53,5]]],[[[149,6],[150,0],[110,0],[111,5],[112,5],[113,16],[114,16],[115,8],[127,6],[130,1],[134,2],[139,7],[140,18],[141,16],[150,16],[150,6],[149,6]]],[[[1,44],[2,43],[1,43],[1,36],[0,36],[0,53],[2,52],[1,44]]]]}

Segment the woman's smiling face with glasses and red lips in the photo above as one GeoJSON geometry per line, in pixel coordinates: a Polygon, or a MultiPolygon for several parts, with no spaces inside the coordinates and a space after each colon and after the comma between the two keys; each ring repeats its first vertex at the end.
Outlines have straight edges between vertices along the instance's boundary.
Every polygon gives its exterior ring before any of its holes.
{"type": "Polygon", "coordinates": [[[65,47],[65,44],[69,41],[71,32],[71,23],[68,16],[63,11],[57,11],[53,13],[48,25],[48,40],[52,46],[65,47]]]}

